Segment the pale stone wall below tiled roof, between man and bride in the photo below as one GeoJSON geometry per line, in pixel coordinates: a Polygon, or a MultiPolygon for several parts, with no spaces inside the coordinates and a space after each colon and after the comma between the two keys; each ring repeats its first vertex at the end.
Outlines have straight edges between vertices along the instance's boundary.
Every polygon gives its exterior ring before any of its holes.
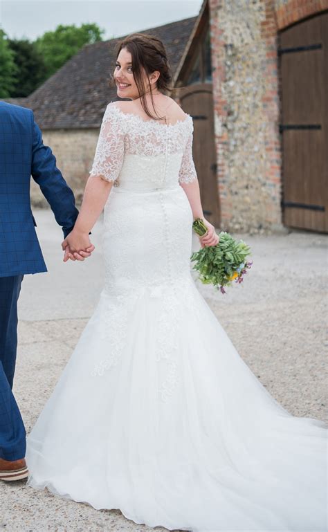
{"type": "MultiPolygon", "coordinates": [[[[51,147],[57,160],[57,167],[72,188],[77,203],[82,201],[84,185],[93,163],[98,135],[98,129],[42,131],[44,144],[51,147]]],[[[30,191],[34,207],[48,207],[46,199],[33,179],[31,179],[30,191]]]]}

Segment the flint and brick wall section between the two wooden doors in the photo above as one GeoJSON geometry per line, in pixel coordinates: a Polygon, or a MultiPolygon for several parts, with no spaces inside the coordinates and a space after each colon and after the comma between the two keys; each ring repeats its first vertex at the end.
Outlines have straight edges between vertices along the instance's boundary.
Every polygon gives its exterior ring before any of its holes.
{"type": "Polygon", "coordinates": [[[209,0],[221,226],[282,229],[278,33],[328,0],[209,0]]]}

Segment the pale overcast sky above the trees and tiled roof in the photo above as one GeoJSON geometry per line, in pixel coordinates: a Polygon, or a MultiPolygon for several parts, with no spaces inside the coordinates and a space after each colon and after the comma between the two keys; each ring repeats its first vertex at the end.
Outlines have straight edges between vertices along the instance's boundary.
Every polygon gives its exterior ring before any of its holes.
{"type": "Polygon", "coordinates": [[[12,39],[34,40],[58,24],[95,22],[104,39],[199,14],[202,0],[0,0],[0,25],[12,39]]]}

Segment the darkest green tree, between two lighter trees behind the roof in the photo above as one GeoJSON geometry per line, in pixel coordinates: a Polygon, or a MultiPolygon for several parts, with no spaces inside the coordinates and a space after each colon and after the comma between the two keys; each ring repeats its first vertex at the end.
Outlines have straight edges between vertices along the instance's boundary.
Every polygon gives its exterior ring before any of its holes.
{"type": "Polygon", "coordinates": [[[44,59],[33,42],[27,39],[9,39],[17,66],[12,98],[24,98],[33,93],[44,80],[44,59]]]}

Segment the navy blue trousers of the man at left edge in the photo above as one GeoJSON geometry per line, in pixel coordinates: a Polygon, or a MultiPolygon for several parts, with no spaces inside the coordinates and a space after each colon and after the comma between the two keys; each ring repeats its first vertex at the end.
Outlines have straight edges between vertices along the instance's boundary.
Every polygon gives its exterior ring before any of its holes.
{"type": "Polygon", "coordinates": [[[0,458],[25,457],[26,430],[12,394],[17,351],[17,301],[24,275],[0,277],[0,458]]]}

